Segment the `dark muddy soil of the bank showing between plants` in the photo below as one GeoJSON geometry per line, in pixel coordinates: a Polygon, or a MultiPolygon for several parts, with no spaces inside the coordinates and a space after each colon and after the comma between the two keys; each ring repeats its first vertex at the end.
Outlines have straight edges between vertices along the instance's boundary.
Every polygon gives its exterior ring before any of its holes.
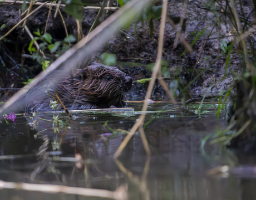
{"type": "MultiPolygon", "coordinates": [[[[116,6],[116,1],[111,1],[110,6],[116,6]]],[[[208,2],[208,1],[205,1],[208,2]]],[[[252,1],[242,1],[243,13],[239,9],[239,3],[237,3],[239,14],[247,15],[253,8],[252,1]]],[[[213,29],[213,26],[218,22],[216,15],[218,11],[209,11],[205,9],[207,4],[191,1],[187,5],[183,4],[183,1],[171,0],[168,4],[168,17],[171,19],[177,19],[180,16],[184,17],[183,30],[181,34],[184,39],[191,43],[195,39],[196,35],[205,27],[208,27],[203,35],[193,45],[193,53],[185,53],[185,47],[178,41],[176,47],[174,47],[176,28],[173,28],[166,21],[165,37],[164,37],[164,49],[163,60],[168,61],[168,74],[172,78],[179,77],[182,80],[183,85],[188,84],[199,73],[201,76],[194,81],[191,85],[190,93],[192,95],[216,95],[221,91],[225,91],[230,88],[234,83],[232,76],[230,75],[230,68],[227,69],[227,75],[224,75],[225,61],[227,54],[224,54],[221,50],[221,40],[225,40],[227,44],[230,44],[233,40],[232,33],[234,28],[230,27],[230,22],[225,15],[221,17],[221,23],[217,24],[213,29]],[[196,5],[198,4],[198,5],[196,5]],[[187,9],[184,9],[184,6],[187,9]],[[199,8],[200,7],[200,8],[199,8]],[[185,12],[184,12],[185,11],[185,12]],[[213,31],[211,32],[211,29],[213,31]],[[208,35],[211,32],[209,39],[208,35]],[[216,39],[213,39],[216,38],[216,39]],[[199,58],[200,57],[200,58],[199,58]],[[198,60],[198,64],[196,61],[198,60]],[[211,89],[208,91],[209,87],[211,89]]],[[[215,5],[216,6],[216,5],[215,5]]],[[[22,4],[17,3],[1,3],[0,4],[0,27],[5,24],[5,27],[0,29],[0,35],[4,35],[21,19],[22,4]]],[[[219,9],[218,5],[216,9],[219,9]]],[[[45,31],[49,8],[45,7],[33,14],[28,18],[27,27],[31,32],[45,31]]],[[[82,20],[83,35],[86,35],[93,22],[97,17],[96,10],[85,10],[85,14],[82,20]]],[[[65,19],[68,34],[73,34],[77,37],[77,25],[74,17],[66,14],[64,9],[61,8],[61,13],[65,19]]],[[[102,14],[99,22],[102,22],[105,18],[112,14],[112,11],[102,14]]],[[[57,14],[56,18],[53,18],[55,14],[55,7],[51,8],[50,18],[47,24],[47,33],[50,33],[53,38],[53,42],[57,40],[63,40],[65,38],[65,31],[60,14],[57,14]]],[[[248,18],[250,20],[250,17],[248,18]]],[[[129,30],[123,29],[109,42],[106,43],[104,52],[114,53],[117,57],[117,66],[130,72],[131,69],[139,66],[140,78],[149,78],[150,71],[147,68],[149,63],[154,63],[156,59],[157,49],[157,35],[159,33],[159,20],[154,21],[153,37],[150,37],[150,29],[148,23],[144,25],[139,22],[137,24],[137,33],[135,34],[135,24],[132,23],[129,30]]],[[[177,21],[177,20],[176,20],[177,21]]],[[[176,22],[174,20],[174,22],[176,22]]],[[[179,20],[178,20],[179,23],[179,20]]],[[[179,27],[177,25],[176,27],[179,27]]],[[[252,35],[250,40],[252,44],[255,42],[255,36],[252,35]]],[[[19,25],[8,37],[0,42],[0,88],[21,88],[22,82],[26,82],[28,79],[35,77],[42,70],[42,65],[38,64],[36,60],[32,58],[24,58],[22,55],[28,54],[27,50],[31,39],[27,33],[24,32],[22,25],[19,25]]],[[[249,48],[249,47],[248,47],[249,48]]],[[[235,49],[235,48],[234,48],[235,49]]],[[[253,59],[253,58],[252,58],[253,59]]],[[[99,61],[94,58],[93,60],[99,61]]],[[[230,64],[234,71],[239,72],[242,70],[242,60],[239,53],[232,52],[230,55],[230,64]]],[[[170,81],[167,81],[170,84],[170,81]]],[[[127,96],[136,96],[137,98],[144,98],[147,84],[135,83],[134,88],[127,96]]],[[[155,90],[155,96],[165,96],[164,91],[157,85],[155,90]]],[[[0,90],[0,100],[5,101],[17,90],[0,90]]]]}

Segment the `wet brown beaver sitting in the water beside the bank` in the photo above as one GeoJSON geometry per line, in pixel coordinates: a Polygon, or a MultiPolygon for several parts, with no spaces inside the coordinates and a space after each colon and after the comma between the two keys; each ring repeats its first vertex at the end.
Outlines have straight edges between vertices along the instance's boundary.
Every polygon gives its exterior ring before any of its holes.
{"type": "MultiPolygon", "coordinates": [[[[50,100],[57,99],[55,92],[68,110],[123,107],[123,94],[131,86],[132,78],[113,66],[94,64],[63,78],[55,71],[28,91],[25,110],[52,111],[50,100]]],[[[59,105],[55,110],[60,109],[59,105]]]]}

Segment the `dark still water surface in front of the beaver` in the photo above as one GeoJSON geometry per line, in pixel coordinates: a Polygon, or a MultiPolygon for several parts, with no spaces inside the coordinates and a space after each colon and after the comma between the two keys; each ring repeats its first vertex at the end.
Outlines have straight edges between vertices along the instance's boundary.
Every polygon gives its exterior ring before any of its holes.
{"type": "MultiPolygon", "coordinates": [[[[130,130],[140,114],[141,105],[129,107],[135,111],[73,114],[66,131],[65,125],[53,124],[52,116],[58,115],[53,113],[37,115],[51,121],[25,116],[17,116],[14,122],[2,120],[0,180],[109,191],[124,186],[129,199],[134,200],[256,199],[255,154],[235,153],[207,143],[201,148],[201,140],[218,131],[215,105],[209,108],[208,104],[207,110],[200,111],[198,105],[150,105],[145,121],[154,120],[145,134],[151,157],[147,158],[136,132],[115,162],[112,157],[126,135],[111,129],[130,130]],[[157,112],[162,109],[164,112],[157,112]],[[82,156],[82,162],[77,162],[77,155],[82,156]],[[229,172],[209,175],[210,169],[226,164],[229,172]]],[[[65,123],[66,114],[59,116],[65,123]]],[[[227,124],[220,119],[219,125],[224,129],[227,124]]],[[[0,189],[0,199],[105,198],[5,188],[0,189]]]]}

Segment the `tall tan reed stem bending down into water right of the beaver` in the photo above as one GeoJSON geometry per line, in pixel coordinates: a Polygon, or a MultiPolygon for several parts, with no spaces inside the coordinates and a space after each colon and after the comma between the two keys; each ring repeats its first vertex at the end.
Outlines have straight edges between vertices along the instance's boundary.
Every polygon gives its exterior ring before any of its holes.
{"type": "MultiPolygon", "coordinates": [[[[161,13],[161,22],[160,22],[160,30],[159,30],[159,42],[158,42],[158,47],[157,47],[156,63],[155,63],[154,69],[152,71],[149,86],[147,87],[146,99],[145,99],[144,105],[142,107],[142,112],[147,111],[147,106],[149,105],[149,99],[150,99],[152,90],[155,85],[156,76],[161,69],[161,60],[162,60],[162,55],[163,55],[163,43],[164,43],[164,29],[165,29],[167,8],[168,8],[168,1],[164,0],[162,13],[161,13]]],[[[129,134],[127,134],[124,141],[122,141],[121,145],[115,152],[115,154],[114,154],[115,159],[120,155],[122,150],[125,148],[127,143],[130,141],[131,137],[134,135],[135,131],[139,128],[139,126],[144,124],[145,116],[146,116],[146,114],[141,114],[139,119],[136,120],[136,122],[135,122],[134,126],[132,126],[129,134]]],[[[147,141],[145,141],[145,142],[147,143],[147,141]]]]}

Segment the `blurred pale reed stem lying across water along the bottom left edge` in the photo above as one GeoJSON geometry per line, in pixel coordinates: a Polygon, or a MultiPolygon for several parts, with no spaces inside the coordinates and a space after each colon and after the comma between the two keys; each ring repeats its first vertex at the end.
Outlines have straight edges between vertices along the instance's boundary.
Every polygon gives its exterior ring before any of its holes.
{"type": "Polygon", "coordinates": [[[120,186],[116,191],[107,191],[106,189],[91,189],[82,187],[68,187],[56,184],[33,184],[33,183],[15,183],[6,182],[0,180],[1,189],[19,189],[21,191],[33,191],[33,192],[44,192],[44,193],[65,193],[65,194],[76,194],[85,197],[100,197],[100,198],[111,198],[111,199],[127,199],[127,191],[124,186],[120,186]]]}

